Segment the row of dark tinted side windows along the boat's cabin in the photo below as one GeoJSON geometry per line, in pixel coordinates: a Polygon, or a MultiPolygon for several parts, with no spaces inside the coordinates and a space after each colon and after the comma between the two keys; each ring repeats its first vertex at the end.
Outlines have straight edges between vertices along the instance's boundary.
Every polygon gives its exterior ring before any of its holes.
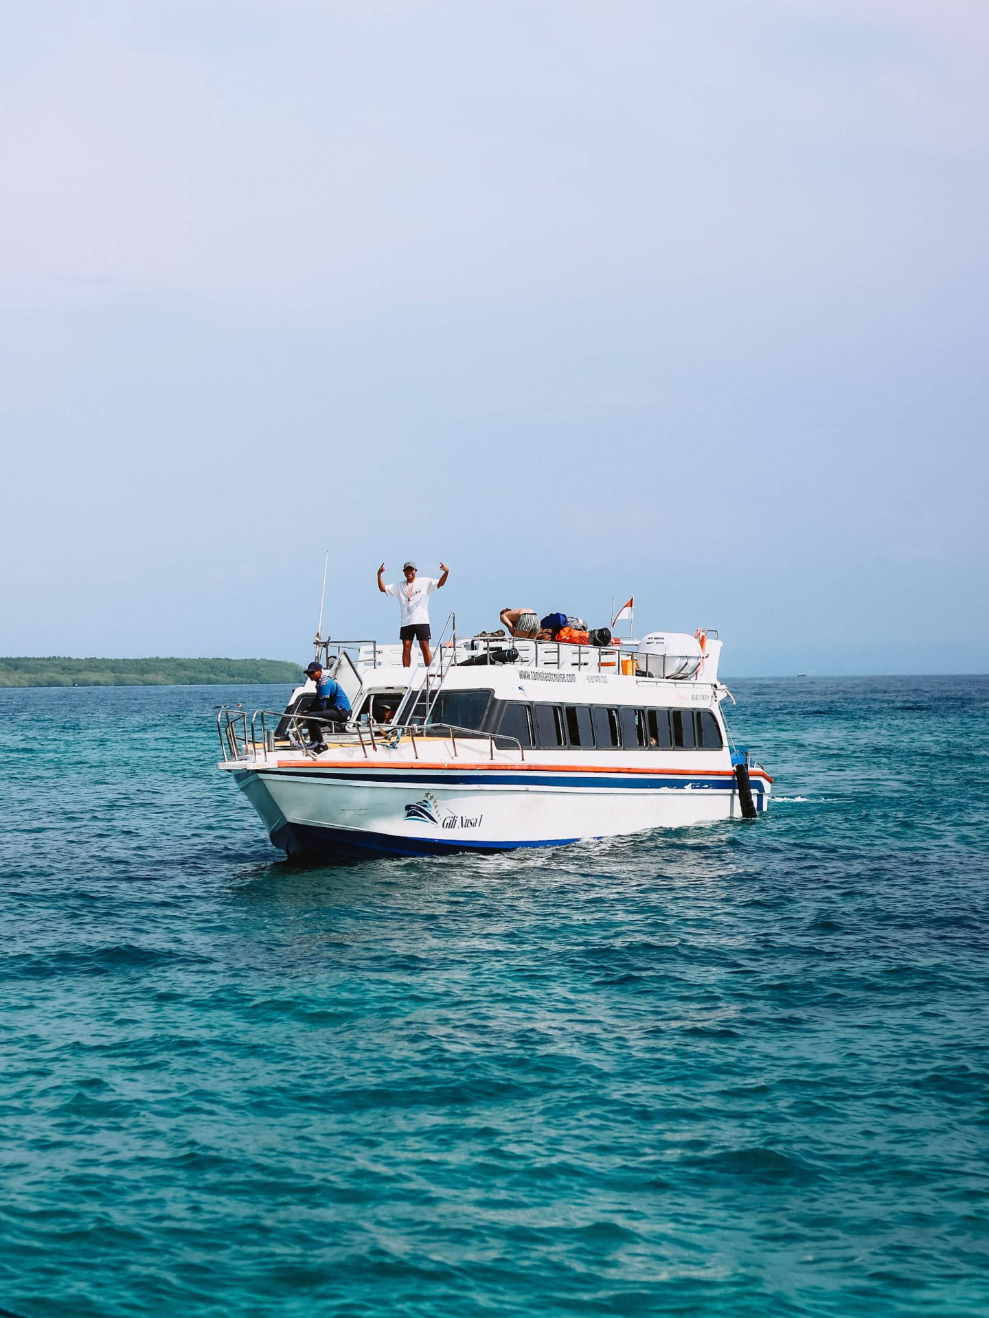
{"type": "Polygon", "coordinates": [[[709,709],[549,705],[493,700],[489,691],[443,691],[430,722],[513,737],[524,746],[613,750],[720,750],[709,709]]]}

